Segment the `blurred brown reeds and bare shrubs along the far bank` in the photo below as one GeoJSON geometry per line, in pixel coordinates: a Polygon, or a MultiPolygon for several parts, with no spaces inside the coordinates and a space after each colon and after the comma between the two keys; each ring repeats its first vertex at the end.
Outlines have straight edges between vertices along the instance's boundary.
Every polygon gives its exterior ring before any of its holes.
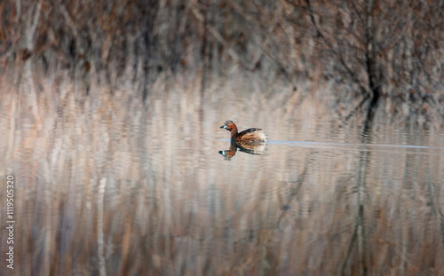
{"type": "Polygon", "coordinates": [[[160,76],[192,73],[204,93],[235,68],[264,90],[317,83],[344,118],[382,106],[442,123],[443,11],[432,0],[6,0],[0,69],[29,60],[44,75],[130,81],[146,100],[160,76]]]}

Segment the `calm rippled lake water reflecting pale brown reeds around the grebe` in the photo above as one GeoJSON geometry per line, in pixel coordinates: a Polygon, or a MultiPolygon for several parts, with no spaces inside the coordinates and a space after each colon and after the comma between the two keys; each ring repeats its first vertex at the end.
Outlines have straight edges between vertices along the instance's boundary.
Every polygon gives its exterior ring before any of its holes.
{"type": "MultiPolygon", "coordinates": [[[[3,79],[0,96],[0,176],[14,179],[15,219],[14,270],[3,258],[2,273],[444,271],[439,130],[379,115],[367,131],[305,86],[221,81],[201,100],[177,81],[144,105],[130,85],[92,83],[86,95],[21,82],[3,79]],[[226,120],[262,128],[269,143],[229,153],[226,120]]],[[[6,198],[2,188],[2,225],[6,198]]],[[[4,226],[3,253],[6,236],[4,226]]]]}

